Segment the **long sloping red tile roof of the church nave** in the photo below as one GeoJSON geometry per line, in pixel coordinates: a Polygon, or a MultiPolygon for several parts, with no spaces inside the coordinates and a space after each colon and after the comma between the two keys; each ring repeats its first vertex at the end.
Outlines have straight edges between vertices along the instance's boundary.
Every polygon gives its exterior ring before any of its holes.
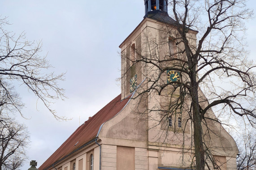
{"type": "Polygon", "coordinates": [[[119,94],[98,113],[78,127],[77,130],[39,167],[39,170],[47,169],[56,161],[59,161],[69,153],[79,149],[82,145],[95,139],[100,126],[120,112],[128,101],[129,99],[121,101],[121,94],[119,94]],[[76,144],[77,142],[78,144],[76,144]]]}

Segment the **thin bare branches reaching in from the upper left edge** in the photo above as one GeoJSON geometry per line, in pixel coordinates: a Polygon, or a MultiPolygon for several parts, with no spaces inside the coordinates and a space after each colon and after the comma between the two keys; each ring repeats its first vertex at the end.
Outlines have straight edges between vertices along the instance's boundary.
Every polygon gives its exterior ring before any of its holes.
{"type": "Polygon", "coordinates": [[[7,103],[0,101],[0,106],[6,104],[22,114],[24,104],[14,91],[14,85],[19,83],[35,93],[56,119],[65,119],[50,108],[53,100],[64,97],[64,89],[57,85],[58,81],[64,79],[64,74],[55,75],[48,71],[52,66],[46,57],[40,56],[41,42],[26,40],[24,32],[17,36],[4,30],[8,24],[6,18],[0,19],[0,88],[8,98],[7,103]]]}

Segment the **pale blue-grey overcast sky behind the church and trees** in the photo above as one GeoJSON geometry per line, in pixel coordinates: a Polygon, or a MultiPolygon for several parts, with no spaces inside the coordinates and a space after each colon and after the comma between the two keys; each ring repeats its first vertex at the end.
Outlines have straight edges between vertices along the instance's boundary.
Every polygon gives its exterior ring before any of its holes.
{"type": "MultiPolygon", "coordinates": [[[[256,9],[255,0],[248,6],[256,9]]],[[[143,20],[143,0],[0,0],[0,15],[16,34],[26,32],[29,40],[42,40],[42,55],[47,55],[54,72],[66,72],[60,86],[66,89],[65,101],[52,107],[60,116],[73,118],[57,121],[37,103],[25,87],[17,90],[26,103],[17,119],[28,126],[31,145],[29,161],[39,167],[79,126],[121,93],[121,59],[118,46],[143,20]]],[[[256,20],[247,23],[248,50],[256,55],[256,20]]],[[[29,161],[22,170],[27,170],[29,161]]]]}

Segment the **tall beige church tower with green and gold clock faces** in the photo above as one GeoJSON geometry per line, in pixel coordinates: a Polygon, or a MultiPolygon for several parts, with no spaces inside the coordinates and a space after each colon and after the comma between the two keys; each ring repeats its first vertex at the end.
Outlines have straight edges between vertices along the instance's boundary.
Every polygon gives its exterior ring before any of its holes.
{"type": "MultiPolygon", "coordinates": [[[[175,169],[181,165],[189,167],[193,162],[192,154],[178,152],[182,147],[191,147],[194,130],[191,99],[186,93],[180,93],[186,90],[182,89],[184,86],[178,86],[178,81],[184,84],[189,81],[188,75],[182,70],[187,61],[183,52],[185,47],[180,40],[178,23],[168,15],[167,4],[167,0],[144,0],[143,20],[119,46],[121,98],[135,99],[131,101],[130,113],[146,120],[149,170],[156,170],[157,166],[159,169],[175,169]],[[163,145],[169,151],[162,150],[163,145]],[[186,157],[187,161],[182,164],[180,157],[186,157]]],[[[196,49],[197,33],[185,29],[192,50],[196,49]]],[[[200,105],[203,106],[208,100],[200,89],[199,93],[200,100],[204,101],[200,105]]],[[[213,110],[208,110],[207,116],[216,119],[213,110]]],[[[204,130],[207,129],[202,126],[204,130]]],[[[214,157],[223,162],[221,170],[229,169],[228,166],[235,168],[234,155],[238,150],[234,140],[222,126],[216,126],[213,122],[209,126],[217,135],[204,136],[204,140],[218,153],[214,157]],[[215,141],[212,142],[211,138],[215,141]],[[227,152],[223,150],[224,143],[226,148],[231,148],[227,152]]]]}

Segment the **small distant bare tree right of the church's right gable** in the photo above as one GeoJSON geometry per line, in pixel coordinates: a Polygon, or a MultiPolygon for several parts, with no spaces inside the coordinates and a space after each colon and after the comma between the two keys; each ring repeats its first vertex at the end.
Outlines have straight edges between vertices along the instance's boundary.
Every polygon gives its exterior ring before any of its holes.
{"type": "Polygon", "coordinates": [[[237,158],[238,170],[256,169],[256,133],[244,131],[243,139],[239,144],[239,156],[237,158]]]}

